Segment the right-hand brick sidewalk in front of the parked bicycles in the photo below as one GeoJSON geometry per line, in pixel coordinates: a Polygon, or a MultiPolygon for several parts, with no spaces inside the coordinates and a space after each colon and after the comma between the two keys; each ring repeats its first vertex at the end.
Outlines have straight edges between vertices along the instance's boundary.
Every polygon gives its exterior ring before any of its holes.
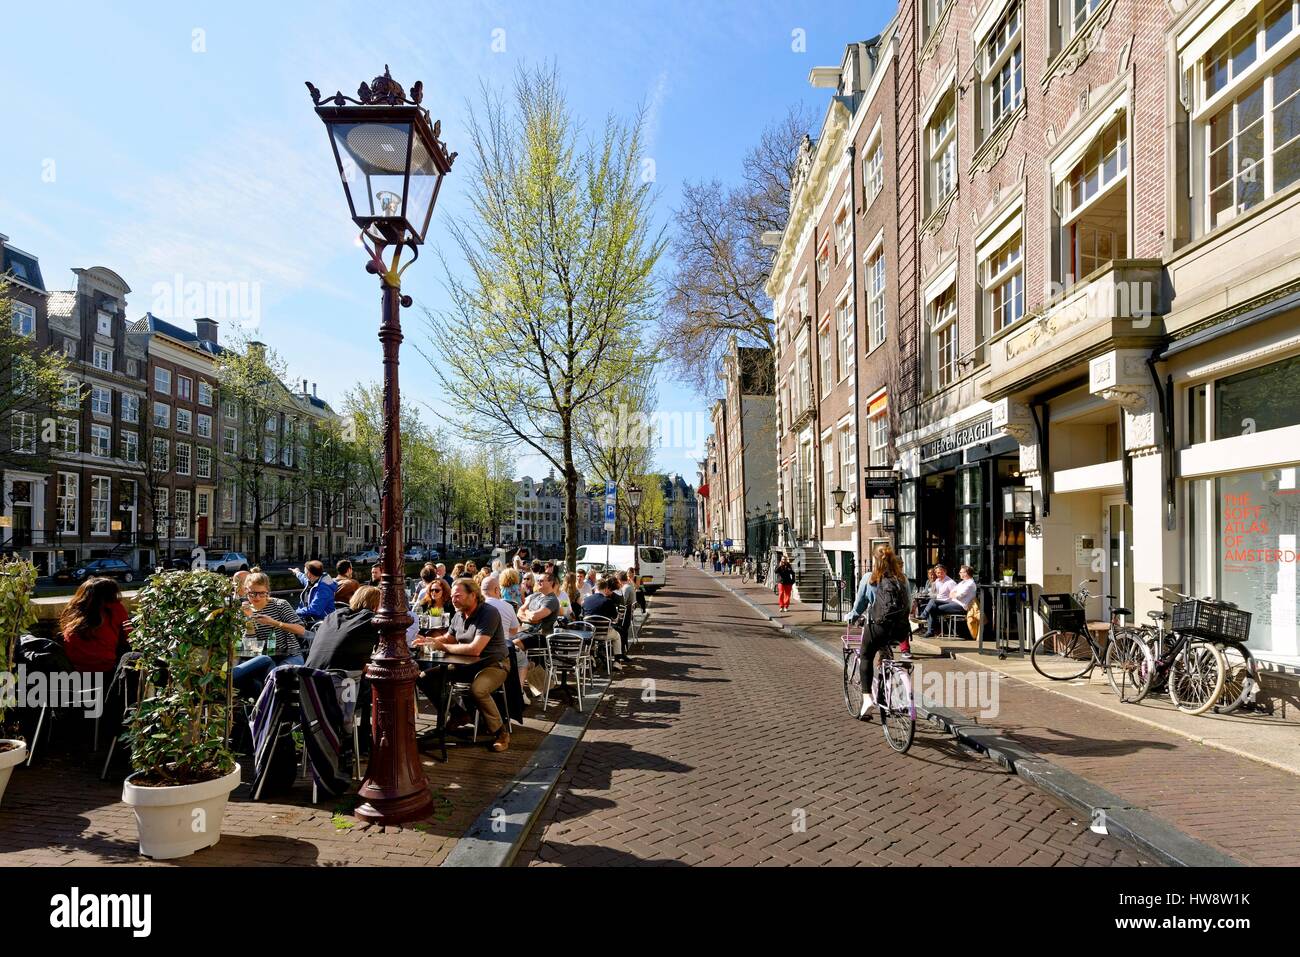
{"type": "MultiPolygon", "coordinates": [[[[823,623],[815,607],[776,609],[776,597],[738,577],[710,577],[781,627],[840,659],[842,623],[823,623]]],[[[974,642],[913,641],[928,671],[971,668],[997,675],[996,716],[939,702],[1000,729],[1024,749],[1162,818],[1188,836],[1247,865],[1300,863],[1300,716],[1191,716],[1160,701],[1123,705],[1105,677],[1049,683],[1028,658],[979,655],[974,642]],[[956,654],[954,658],[945,657],[956,654]],[[1026,674],[1028,672],[1028,674],[1026,674]],[[1043,685],[1052,685],[1045,688],[1043,685]],[[1060,687],[1065,685],[1065,687],[1060,687]],[[1230,750],[1231,749],[1231,750],[1230,750]]],[[[958,688],[966,681],[954,683],[958,688]]],[[[1167,701],[1167,698],[1166,698],[1167,701]]],[[[935,702],[927,702],[935,703],[935,702]]],[[[994,710],[994,709],[988,709],[994,710]]]]}

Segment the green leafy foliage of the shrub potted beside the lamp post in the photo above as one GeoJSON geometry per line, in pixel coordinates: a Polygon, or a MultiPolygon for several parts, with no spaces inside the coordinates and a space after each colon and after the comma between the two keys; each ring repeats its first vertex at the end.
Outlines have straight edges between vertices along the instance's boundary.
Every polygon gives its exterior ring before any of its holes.
{"type": "Polygon", "coordinates": [[[153,688],[125,735],[136,781],[195,784],[229,774],[230,680],[244,629],[230,579],[156,573],[140,589],[131,623],[131,648],[153,688]]]}

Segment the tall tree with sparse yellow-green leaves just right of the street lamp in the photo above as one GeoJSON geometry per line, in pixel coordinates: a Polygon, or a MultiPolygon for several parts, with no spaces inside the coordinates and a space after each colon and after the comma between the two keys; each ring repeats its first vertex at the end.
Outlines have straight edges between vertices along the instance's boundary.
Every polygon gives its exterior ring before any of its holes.
{"type": "Polygon", "coordinates": [[[654,363],[663,239],[641,174],[641,117],[584,138],[554,70],[521,70],[512,105],[489,90],[471,112],[471,212],[450,222],[465,269],[451,308],[429,313],[428,355],[459,395],[471,437],[542,455],[566,493],[569,567],[582,481],[577,416],[654,363]]]}

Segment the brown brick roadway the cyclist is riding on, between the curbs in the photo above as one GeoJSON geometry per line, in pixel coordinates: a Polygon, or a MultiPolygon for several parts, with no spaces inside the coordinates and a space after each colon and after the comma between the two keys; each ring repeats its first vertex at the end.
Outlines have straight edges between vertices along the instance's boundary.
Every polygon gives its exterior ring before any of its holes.
{"type": "Polygon", "coordinates": [[[992,762],[852,720],[840,674],[673,564],[520,865],[1139,865],[992,762]]]}

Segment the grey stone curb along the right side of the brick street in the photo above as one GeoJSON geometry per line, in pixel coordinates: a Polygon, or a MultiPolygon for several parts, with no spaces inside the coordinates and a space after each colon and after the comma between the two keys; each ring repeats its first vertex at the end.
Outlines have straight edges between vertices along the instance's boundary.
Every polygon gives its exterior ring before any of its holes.
{"type": "MultiPolygon", "coordinates": [[[[827,659],[842,666],[842,659],[805,628],[776,619],[727,583],[712,576],[708,577],[754,609],[772,625],[789,632],[811,645],[827,659]]],[[[1160,863],[1171,867],[1243,866],[1236,858],[1202,844],[1164,818],[1135,807],[1118,794],[1046,761],[1018,741],[1004,736],[996,728],[979,724],[974,718],[942,707],[924,707],[920,703],[916,705],[916,716],[952,735],[966,750],[996,762],[1006,771],[1024,778],[1040,791],[1082,811],[1089,820],[1104,822],[1105,833],[1160,863]]]]}

